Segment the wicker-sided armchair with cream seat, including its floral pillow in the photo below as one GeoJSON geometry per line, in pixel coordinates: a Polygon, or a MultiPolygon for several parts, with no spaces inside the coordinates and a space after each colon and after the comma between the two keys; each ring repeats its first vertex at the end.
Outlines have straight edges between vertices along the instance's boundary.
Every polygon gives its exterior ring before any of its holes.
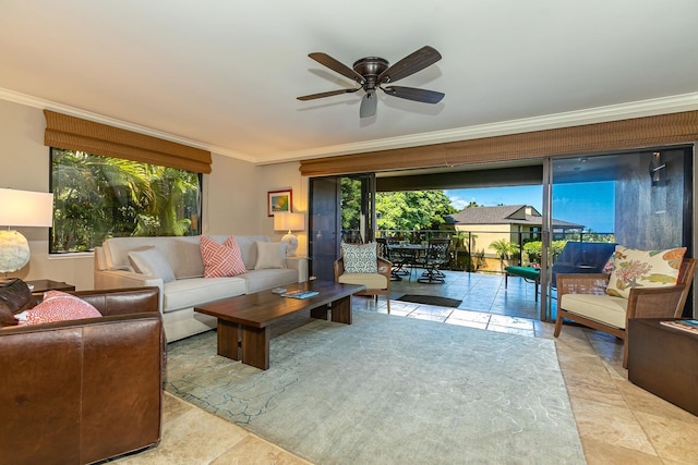
{"type": "Polygon", "coordinates": [[[679,318],[696,270],[684,247],[640,250],[616,245],[613,270],[606,273],[557,274],[557,338],[563,319],[607,332],[625,341],[628,364],[630,318],[679,318]]]}

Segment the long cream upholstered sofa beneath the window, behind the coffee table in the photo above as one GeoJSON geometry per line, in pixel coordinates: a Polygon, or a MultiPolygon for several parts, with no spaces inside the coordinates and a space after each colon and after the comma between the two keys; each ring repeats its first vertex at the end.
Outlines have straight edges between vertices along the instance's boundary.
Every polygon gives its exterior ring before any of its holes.
{"type": "MultiPolygon", "coordinates": [[[[227,237],[210,236],[219,244],[227,237]]],[[[308,260],[284,257],[284,249],[275,247],[280,244],[270,243],[268,236],[234,237],[248,272],[226,278],[204,278],[200,236],[109,238],[95,247],[95,289],[159,287],[165,333],[171,342],[216,328],[215,318],[194,313],[196,305],[308,279],[308,260]],[[144,252],[159,258],[161,266],[156,264],[139,272],[133,258],[144,252]],[[130,258],[130,253],[136,254],[130,258]]]]}

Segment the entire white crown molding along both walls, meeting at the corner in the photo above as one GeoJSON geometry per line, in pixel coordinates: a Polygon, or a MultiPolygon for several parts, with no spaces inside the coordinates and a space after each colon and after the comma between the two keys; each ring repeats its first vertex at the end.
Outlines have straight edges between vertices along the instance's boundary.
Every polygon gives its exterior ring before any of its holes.
{"type": "Polygon", "coordinates": [[[424,145],[469,140],[483,137],[494,137],[508,134],[554,130],[561,127],[579,126],[582,124],[604,123],[610,121],[628,120],[631,118],[652,117],[658,114],[698,110],[698,93],[689,93],[670,97],[638,100],[627,103],[610,105],[605,107],[546,114],[542,117],[458,127],[455,130],[434,131],[431,133],[410,134],[399,137],[316,147],[308,150],[279,152],[269,157],[255,157],[248,154],[230,150],[228,148],[205,144],[200,140],[189,139],[185,137],[177,136],[174,134],[105,117],[103,114],[81,110],[79,108],[70,107],[67,105],[57,103],[55,101],[16,93],[14,90],[1,87],[0,99],[25,105],[27,107],[39,108],[41,110],[48,109],[59,111],[61,113],[70,114],[76,118],[83,118],[85,120],[94,121],[97,123],[109,124],[115,127],[146,134],[153,137],[159,137],[166,140],[189,145],[204,150],[210,150],[212,152],[218,155],[236,158],[242,161],[249,161],[260,166],[308,160],[322,157],[333,157],[339,155],[362,154],[366,151],[419,147],[424,145]]]}

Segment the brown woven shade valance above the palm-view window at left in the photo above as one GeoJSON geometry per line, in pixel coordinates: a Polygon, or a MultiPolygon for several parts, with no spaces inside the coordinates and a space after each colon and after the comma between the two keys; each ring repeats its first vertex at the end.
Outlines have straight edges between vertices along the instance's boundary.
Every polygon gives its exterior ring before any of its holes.
{"type": "Polygon", "coordinates": [[[210,173],[210,151],[44,110],[44,145],[210,173]]]}

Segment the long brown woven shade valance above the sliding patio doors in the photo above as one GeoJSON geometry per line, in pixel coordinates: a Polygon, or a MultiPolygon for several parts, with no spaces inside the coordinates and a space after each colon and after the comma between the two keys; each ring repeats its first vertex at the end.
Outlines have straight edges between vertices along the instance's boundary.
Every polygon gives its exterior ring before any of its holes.
{"type": "Polygon", "coordinates": [[[305,176],[456,167],[698,140],[698,111],[302,160],[305,176]]]}

